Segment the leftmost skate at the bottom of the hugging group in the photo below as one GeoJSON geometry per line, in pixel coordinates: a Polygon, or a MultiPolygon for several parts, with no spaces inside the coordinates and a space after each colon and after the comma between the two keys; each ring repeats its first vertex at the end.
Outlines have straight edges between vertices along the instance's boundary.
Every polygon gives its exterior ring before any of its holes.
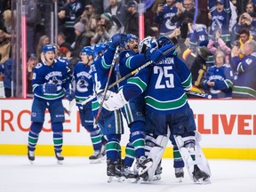
{"type": "Polygon", "coordinates": [[[108,182],[120,181],[121,179],[121,164],[107,160],[107,175],[108,182]],[[117,179],[117,180],[116,180],[117,179]]]}

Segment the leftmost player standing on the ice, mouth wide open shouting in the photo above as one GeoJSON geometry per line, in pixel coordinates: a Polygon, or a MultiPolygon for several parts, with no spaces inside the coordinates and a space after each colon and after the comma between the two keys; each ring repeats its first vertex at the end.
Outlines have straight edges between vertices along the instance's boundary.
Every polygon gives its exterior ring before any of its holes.
{"type": "Polygon", "coordinates": [[[74,99],[74,91],[69,89],[73,71],[65,62],[54,60],[55,52],[52,44],[44,45],[44,60],[36,65],[33,73],[34,100],[31,110],[30,131],[28,133],[28,159],[35,160],[36,143],[44,124],[44,110],[48,108],[51,116],[53,144],[55,156],[59,163],[63,143],[63,123],[65,121],[62,99],[74,99]]]}

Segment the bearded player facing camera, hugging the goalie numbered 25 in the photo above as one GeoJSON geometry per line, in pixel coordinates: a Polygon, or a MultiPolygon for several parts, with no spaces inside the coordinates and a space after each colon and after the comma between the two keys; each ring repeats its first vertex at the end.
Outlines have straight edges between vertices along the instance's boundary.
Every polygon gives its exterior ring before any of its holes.
{"type": "MultiPolygon", "coordinates": [[[[119,54],[119,72],[121,77],[126,76],[132,70],[148,61],[143,54],[139,54],[139,39],[137,36],[128,34],[127,43],[124,47],[124,51],[119,54]]],[[[127,81],[136,82],[137,77],[132,76],[127,81]]],[[[122,87],[127,81],[121,82],[119,87],[122,87]]],[[[125,148],[122,173],[126,179],[134,179],[137,177],[137,172],[133,172],[131,169],[134,157],[137,164],[140,164],[139,166],[147,167],[143,170],[144,172],[147,172],[147,169],[152,164],[152,160],[147,159],[145,156],[146,122],[143,94],[125,104],[122,111],[130,131],[130,139],[125,148]]]]}

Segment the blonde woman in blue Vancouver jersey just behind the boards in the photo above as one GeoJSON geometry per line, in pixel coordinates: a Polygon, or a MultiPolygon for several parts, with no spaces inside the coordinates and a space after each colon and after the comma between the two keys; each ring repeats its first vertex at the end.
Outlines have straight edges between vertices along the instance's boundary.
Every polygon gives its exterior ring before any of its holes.
{"type": "Polygon", "coordinates": [[[215,64],[208,68],[204,78],[204,91],[209,91],[212,98],[232,98],[233,73],[230,65],[225,64],[225,58],[224,52],[215,52],[215,64]]]}

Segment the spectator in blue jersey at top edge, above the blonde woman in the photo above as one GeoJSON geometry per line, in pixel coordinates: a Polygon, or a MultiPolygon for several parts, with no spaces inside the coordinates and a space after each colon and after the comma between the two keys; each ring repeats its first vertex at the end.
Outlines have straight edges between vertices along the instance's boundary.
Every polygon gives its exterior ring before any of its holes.
{"type": "Polygon", "coordinates": [[[229,0],[208,0],[209,20],[211,20],[209,37],[214,36],[215,30],[220,30],[221,38],[225,43],[230,43],[229,22],[231,10],[229,0]]]}

